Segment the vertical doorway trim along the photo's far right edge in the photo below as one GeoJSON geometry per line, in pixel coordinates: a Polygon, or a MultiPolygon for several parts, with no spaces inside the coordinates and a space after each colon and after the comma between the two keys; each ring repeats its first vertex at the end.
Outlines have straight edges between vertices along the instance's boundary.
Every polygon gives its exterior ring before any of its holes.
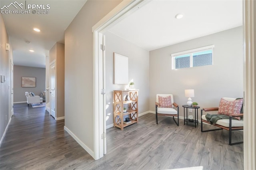
{"type": "Polygon", "coordinates": [[[256,169],[256,3],[243,1],[244,25],[244,169],[256,169]]]}

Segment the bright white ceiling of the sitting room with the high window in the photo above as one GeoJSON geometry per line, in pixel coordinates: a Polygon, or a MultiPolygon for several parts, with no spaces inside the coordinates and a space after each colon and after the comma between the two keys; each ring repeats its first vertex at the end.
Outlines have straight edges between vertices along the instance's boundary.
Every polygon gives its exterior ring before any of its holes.
{"type": "Polygon", "coordinates": [[[109,31],[151,51],[238,26],[242,0],[152,0],[109,31]]]}

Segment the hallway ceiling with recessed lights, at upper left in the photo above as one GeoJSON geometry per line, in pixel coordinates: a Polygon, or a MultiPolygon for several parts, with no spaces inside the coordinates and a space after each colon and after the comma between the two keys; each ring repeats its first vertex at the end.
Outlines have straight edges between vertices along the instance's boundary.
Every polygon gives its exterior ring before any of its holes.
{"type": "MultiPolygon", "coordinates": [[[[45,57],[56,42],[64,43],[64,31],[86,0],[16,0],[19,4],[50,4],[49,14],[3,14],[13,49],[14,65],[45,67],[45,57]],[[41,32],[35,32],[33,28],[41,32]],[[25,43],[30,41],[31,43],[25,43]],[[33,49],[34,52],[28,51],[33,49]]],[[[15,0],[1,0],[0,7],[15,0]]],[[[8,8],[15,10],[13,6],[8,8]]],[[[18,7],[18,10],[21,8],[18,7]]]]}

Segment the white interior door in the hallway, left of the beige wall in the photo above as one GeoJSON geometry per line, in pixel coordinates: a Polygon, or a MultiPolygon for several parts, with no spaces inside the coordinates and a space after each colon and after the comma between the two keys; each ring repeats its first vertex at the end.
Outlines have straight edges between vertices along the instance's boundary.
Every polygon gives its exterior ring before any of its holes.
{"type": "Polygon", "coordinates": [[[50,65],[50,115],[56,118],[56,69],[55,69],[55,61],[50,65]]]}

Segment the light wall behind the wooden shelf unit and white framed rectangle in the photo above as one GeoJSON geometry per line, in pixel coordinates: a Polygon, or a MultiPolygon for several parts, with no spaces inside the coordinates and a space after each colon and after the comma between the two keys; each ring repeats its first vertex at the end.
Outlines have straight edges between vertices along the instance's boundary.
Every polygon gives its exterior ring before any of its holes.
{"type": "MultiPolygon", "coordinates": [[[[113,90],[124,90],[126,85],[113,84],[113,52],[129,57],[129,81],[133,79],[134,88],[139,89],[138,111],[149,110],[149,51],[142,49],[110,32],[106,36],[106,125],[112,125],[113,90]]],[[[122,63],[120,63],[122,64],[122,63]]]]}

